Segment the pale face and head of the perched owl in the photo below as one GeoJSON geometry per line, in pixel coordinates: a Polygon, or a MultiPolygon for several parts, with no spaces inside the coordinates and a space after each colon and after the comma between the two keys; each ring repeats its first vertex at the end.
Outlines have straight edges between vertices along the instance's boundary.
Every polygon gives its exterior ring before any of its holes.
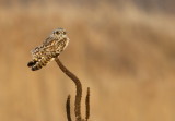
{"type": "Polygon", "coordinates": [[[65,38],[66,34],[67,32],[63,28],[57,28],[52,32],[52,36],[55,36],[56,38],[65,38]]]}

